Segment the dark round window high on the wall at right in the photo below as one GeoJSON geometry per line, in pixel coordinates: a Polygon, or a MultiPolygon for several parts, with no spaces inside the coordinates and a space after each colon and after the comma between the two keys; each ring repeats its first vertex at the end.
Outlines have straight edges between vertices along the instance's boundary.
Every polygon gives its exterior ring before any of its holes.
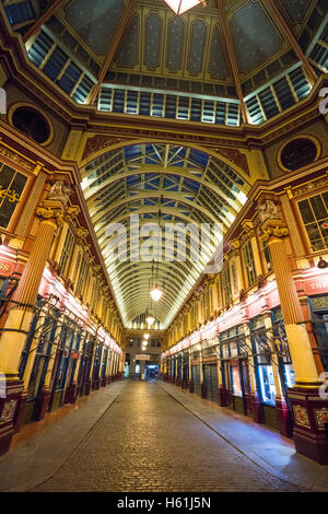
{"type": "Polygon", "coordinates": [[[281,151],[280,160],[291,172],[313,163],[318,156],[318,147],[312,139],[298,138],[290,141],[281,151]]]}

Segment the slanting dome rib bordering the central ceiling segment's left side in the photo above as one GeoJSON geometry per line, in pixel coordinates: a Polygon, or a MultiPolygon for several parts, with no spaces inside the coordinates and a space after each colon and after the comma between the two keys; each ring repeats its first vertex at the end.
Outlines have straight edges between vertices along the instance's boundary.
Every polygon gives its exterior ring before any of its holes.
{"type": "Polygon", "coordinates": [[[97,83],[93,86],[91,93],[90,93],[90,97],[89,97],[89,103],[92,105],[99,92],[99,89],[102,86],[102,83],[103,83],[103,80],[105,79],[106,77],[106,73],[108,71],[108,68],[115,57],[115,54],[121,43],[121,38],[122,38],[122,35],[125,34],[126,30],[128,28],[131,20],[132,20],[132,15],[133,15],[133,11],[134,11],[134,7],[136,7],[136,3],[137,3],[137,0],[130,0],[128,2],[128,7],[126,8],[121,19],[119,20],[118,22],[118,25],[116,26],[116,30],[114,32],[114,35],[110,39],[110,43],[109,43],[109,47],[108,47],[108,51],[106,54],[106,57],[105,57],[105,62],[103,65],[103,68],[101,69],[101,73],[99,73],[99,77],[98,77],[98,81],[97,83]]]}

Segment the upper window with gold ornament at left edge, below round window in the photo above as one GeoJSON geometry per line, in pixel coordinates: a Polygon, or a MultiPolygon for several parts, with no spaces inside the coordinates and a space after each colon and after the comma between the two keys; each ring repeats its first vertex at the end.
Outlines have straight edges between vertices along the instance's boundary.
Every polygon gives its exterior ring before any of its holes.
{"type": "Polygon", "coordinates": [[[0,162],[0,226],[7,229],[21,201],[27,177],[0,162]]]}

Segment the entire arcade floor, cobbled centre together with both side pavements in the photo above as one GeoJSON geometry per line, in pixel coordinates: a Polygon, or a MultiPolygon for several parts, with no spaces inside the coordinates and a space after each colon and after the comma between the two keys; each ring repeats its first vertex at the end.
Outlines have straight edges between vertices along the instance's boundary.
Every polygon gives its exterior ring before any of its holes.
{"type": "Polygon", "coordinates": [[[93,395],[0,458],[1,490],[304,491],[325,484],[328,490],[326,467],[293,457],[288,440],[171,384],[126,381],[93,395]],[[220,435],[220,427],[225,434],[233,430],[233,443],[220,435]],[[257,458],[247,440],[262,455],[257,458]],[[279,440],[292,463],[290,475],[281,474],[279,459],[266,465],[279,440]],[[315,484],[316,477],[321,482],[315,484]]]}

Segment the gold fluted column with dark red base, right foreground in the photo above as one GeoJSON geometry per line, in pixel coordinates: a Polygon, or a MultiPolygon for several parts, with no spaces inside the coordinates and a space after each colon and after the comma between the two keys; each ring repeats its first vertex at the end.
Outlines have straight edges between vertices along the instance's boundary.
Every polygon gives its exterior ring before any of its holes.
{"type": "Polygon", "coordinates": [[[295,427],[293,439],[296,451],[319,464],[328,464],[328,439],[324,419],[328,399],[320,394],[309,336],[304,323],[301,303],[284,246],[289,231],[282,221],[278,202],[272,199],[259,205],[262,240],[269,245],[280,305],[295,372],[295,385],[288,392],[295,427]]]}

